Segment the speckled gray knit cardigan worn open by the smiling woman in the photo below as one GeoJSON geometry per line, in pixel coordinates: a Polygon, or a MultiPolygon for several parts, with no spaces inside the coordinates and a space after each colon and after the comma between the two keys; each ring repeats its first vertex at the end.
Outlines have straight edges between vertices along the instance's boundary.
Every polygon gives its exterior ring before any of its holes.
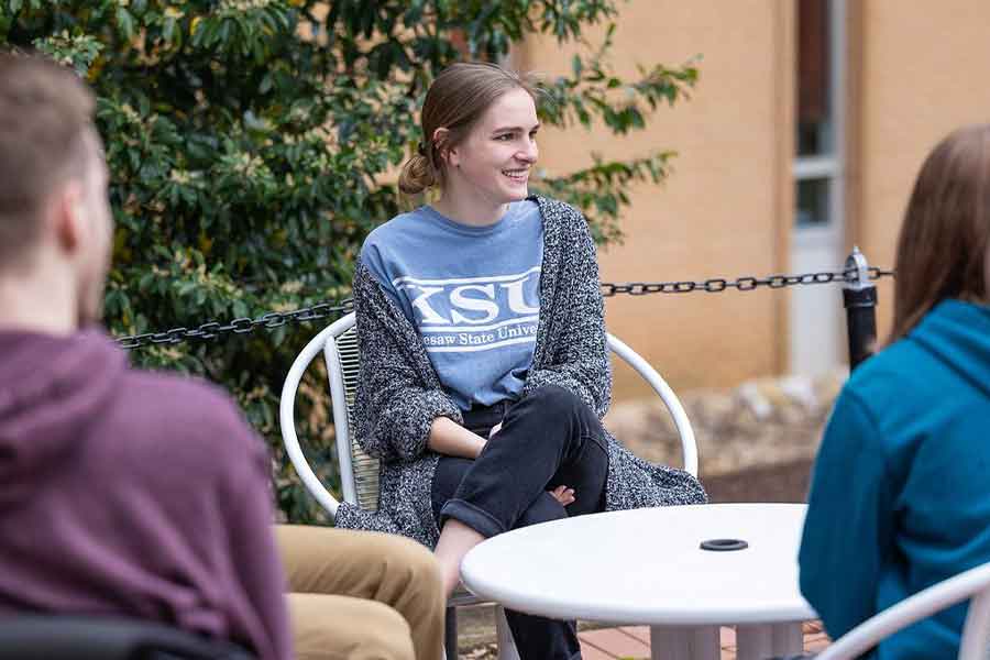
{"type": "MultiPolygon", "coordinates": [[[[595,245],[580,211],[535,197],[543,222],[540,319],[527,392],[559,385],[598,417],[608,409],[612,372],[595,245]]],[[[440,385],[416,329],[361,263],[354,274],[361,371],[354,406],[361,447],[381,459],[378,512],[341,503],[337,526],[402,534],[428,548],[439,537],[430,488],[439,454],[427,448],[435,418],[463,424],[440,385]]],[[[654,465],[608,436],[607,510],[706,501],[682,470],[654,465]]]]}

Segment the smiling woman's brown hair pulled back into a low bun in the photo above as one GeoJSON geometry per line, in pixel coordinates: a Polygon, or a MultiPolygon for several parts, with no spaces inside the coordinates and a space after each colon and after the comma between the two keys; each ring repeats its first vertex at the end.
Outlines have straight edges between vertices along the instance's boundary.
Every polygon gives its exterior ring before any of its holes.
{"type": "Polygon", "coordinates": [[[399,190],[418,195],[443,185],[444,150],[459,145],[485,110],[502,95],[525,89],[535,97],[532,85],[516,72],[483,62],[459,62],[442,72],[427,90],[422,105],[422,142],[399,174],[399,190]],[[442,144],[433,141],[437,129],[447,129],[442,144]]]}

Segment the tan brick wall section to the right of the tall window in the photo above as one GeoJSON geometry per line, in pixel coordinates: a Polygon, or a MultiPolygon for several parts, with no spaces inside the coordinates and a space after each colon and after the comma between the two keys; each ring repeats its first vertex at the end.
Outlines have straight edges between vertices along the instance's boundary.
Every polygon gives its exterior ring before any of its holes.
{"type": "MultiPolygon", "coordinates": [[[[953,129],[990,121],[990,2],[869,0],[858,6],[861,80],[850,152],[854,235],[877,264],[893,265],[901,216],[921,163],[953,129]]],[[[881,290],[881,333],[892,285],[881,290]]]]}

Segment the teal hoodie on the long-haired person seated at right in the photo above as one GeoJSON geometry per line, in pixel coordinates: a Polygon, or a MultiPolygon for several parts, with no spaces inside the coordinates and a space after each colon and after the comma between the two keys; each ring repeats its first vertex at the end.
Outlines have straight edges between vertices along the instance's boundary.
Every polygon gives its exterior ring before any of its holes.
{"type": "MultiPolygon", "coordinates": [[[[939,304],[862,364],[814,468],[801,591],[836,638],[990,561],[990,308],[939,304]]],[[[955,658],[968,604],[894,634],[873,658],[955,658]]]]}

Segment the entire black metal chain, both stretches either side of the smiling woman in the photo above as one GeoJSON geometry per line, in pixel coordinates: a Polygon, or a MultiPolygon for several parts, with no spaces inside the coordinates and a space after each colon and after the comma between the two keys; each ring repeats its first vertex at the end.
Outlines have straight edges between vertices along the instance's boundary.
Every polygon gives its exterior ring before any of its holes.
{"type": "MultiPolygon", "coordinates": [[[[893,277],[893,271],[883,271],[876,266],[869,268],[870,279],[893,277]]],[[[647,294],[690,294],[692,292],[717,294],[728,289],[751,292],[761,286],[783,288],[785,286],[803,284],[855,282],[856,278],[856,268],[848,268],[846,271],[825,271],[821,273],[804,273],[802,275],[770,275],[768,277],[738,277],[736,279],[713,277],[711,279],[705,279],[704,282],[630,282],[625,284],[603,282],[602,295],[608,298],[619,294],[645,296],[647,294]]],[[[254,319],[244,317],[233,319],[226,323],[208,321],[196,328],[173,328],[162,332],[145,332],[143,334],[120,337],[117,339],[117,342],[122,349],[131,350],[148,345],[177,344],[190,339],[211,340],[230,333],[248,334],[249,332],[254,332],[258,328],[271,330],[292,322],[316,321],[331,316],[348,314],[353,309],[354,301],[352,298],[340,301],[328,300],[318,302],[311,307],[302,307],[292,311],[270,311],[254,319]]]]}

